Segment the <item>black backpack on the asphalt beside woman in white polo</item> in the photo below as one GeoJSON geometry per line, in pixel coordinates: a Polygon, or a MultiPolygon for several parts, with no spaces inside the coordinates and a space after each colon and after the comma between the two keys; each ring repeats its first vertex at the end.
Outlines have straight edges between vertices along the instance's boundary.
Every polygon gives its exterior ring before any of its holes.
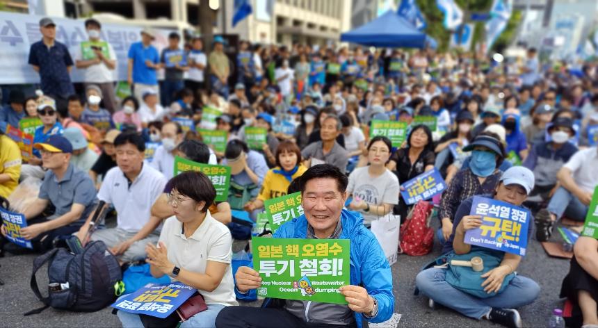
{"type": "Polygon", "coordinates": [[[31,289],[45,306],[24,315],[40,313],[48,306],[76,312],[104,309],[116,300],[115,284],[121,279],[120,265],[102,241],[88,243],[81,254],[65,248],[52,249],[33,261],[31,274],[31,289]],[[47,297],[42,297],[35,272],[45,263],[49,291],[47,297]]]}

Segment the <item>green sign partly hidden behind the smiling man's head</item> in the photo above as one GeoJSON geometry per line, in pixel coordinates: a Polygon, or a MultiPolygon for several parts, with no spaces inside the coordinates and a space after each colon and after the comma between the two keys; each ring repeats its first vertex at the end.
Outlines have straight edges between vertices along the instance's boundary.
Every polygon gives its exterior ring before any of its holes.
{"type": "Polygon", "coordinates": [[[266,215],[270,221],[270,230],[276,231],[284,222],[299,218],[303,214],[301,192],[267,199],[264,202],[266,215]]]}

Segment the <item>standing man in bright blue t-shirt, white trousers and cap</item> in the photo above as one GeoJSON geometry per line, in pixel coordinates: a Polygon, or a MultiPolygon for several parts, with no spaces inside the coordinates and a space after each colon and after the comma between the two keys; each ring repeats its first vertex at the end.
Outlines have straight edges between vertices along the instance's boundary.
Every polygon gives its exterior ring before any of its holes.
{"type": "MultiPolygon", "coordinates": [[[[134,95],[142,99],[143,92],[151,89],[159,92],[156,70],[161,68],[158,49],[152,46],[155,32],[150,28],[141,31],[141,41],[131,44],[129,48],[129,62],[127,65],[127,82],[133,85],[134,95]]],[[[160,100],[160,99],[158,99],[160,100]]]]}

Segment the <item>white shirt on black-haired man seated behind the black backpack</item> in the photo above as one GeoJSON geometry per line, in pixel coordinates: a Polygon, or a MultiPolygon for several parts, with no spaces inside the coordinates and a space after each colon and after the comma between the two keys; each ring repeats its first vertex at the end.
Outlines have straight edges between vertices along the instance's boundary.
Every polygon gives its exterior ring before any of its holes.
{"type": "Polygon", "coordinates": [[[129,186],[129,179],[116,166],[106,173],[97,199],[114,205],[118,228],[137,232],[149,220],[152,204],[164,192],[166,182],[163,174],[143,163],[141,172],[129,186]]]}

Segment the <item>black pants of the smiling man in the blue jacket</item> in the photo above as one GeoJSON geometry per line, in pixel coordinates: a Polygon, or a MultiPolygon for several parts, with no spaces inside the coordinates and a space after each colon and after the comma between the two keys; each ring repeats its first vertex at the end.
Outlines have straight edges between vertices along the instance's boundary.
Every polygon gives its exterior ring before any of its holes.
{"type": "Polygon", "coordinates": [[[294,327],[357,327],[341,326],[315,322],[305,322],[289,311],[281,308],[258,308],[252,306],[227,306],[218,313],[217,328],[294,328],[294,327]]]}

